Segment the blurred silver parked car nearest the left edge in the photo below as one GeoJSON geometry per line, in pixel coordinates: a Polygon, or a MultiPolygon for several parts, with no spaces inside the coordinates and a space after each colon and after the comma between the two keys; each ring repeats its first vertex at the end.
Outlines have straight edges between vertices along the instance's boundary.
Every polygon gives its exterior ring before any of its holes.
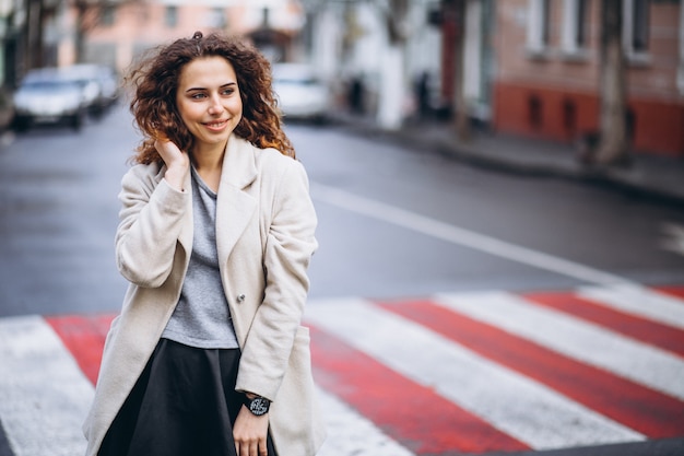
{"type": "Polygon", "coordinates": [[[31,70],[14,93],[14,122],[25,130],[34,124],[68,122],[81,129],[87,108],[83,89],[54,68],[31,70]]]}

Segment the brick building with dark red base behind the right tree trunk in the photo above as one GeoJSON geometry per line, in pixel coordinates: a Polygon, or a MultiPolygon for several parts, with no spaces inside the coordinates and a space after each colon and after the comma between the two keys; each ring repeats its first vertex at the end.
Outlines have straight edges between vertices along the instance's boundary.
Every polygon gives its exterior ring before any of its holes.
{"type": "MultiPolygon", "coordinates": [[[[574,141],[599,129],[600,3],[497,2],[492,116],[497,131],[574,141]]],[[[632,148],[684,156],[682,4],[622,4],[632,148]]]]}

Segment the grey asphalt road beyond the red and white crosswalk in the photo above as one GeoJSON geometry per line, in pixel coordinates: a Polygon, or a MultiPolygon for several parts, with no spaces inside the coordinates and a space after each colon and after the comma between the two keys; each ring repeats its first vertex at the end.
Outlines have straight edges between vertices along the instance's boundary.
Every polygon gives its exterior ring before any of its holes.
{"type": "MultiPolygon", "coordinates": [[[[684,252],[669,234],[684,226],[684,211],[673,204],[486,172],[343,126],[287,131],[319,215],[312,302],[684,284],[684,252]]],[[[126,283],[114,265],[116,197],[137,141],[121,106],[79,133],[45,127],[5,137],[0,317],[118,311],[126,283]]],[[[549,454],[674,455],[683,442],[549,454]]]]}

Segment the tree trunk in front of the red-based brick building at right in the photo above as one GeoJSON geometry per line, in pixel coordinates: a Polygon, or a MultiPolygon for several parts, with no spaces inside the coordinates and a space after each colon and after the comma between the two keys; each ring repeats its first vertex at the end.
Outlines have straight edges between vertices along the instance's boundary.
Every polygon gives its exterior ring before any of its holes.
{"type": "Polygon", "coordinates": [[[601,1],[601,117],[595,163],[612,165],[628,159],[625,56],[622,1],[601,1]]]}

